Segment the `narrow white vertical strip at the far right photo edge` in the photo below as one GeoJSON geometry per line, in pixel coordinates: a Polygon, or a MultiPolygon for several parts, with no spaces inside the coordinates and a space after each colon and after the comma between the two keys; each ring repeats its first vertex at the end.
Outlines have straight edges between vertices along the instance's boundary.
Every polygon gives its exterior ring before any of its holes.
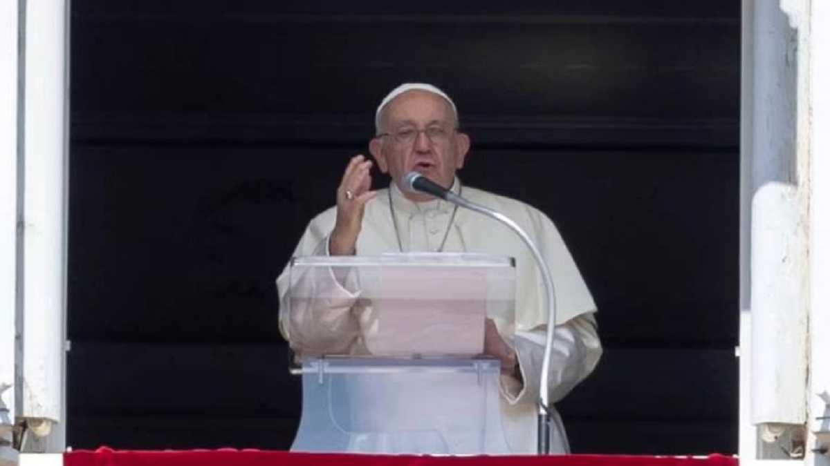
{"type": "MultiPolygon", "coordinates": [[[[809,42],[810,121],[810,420],[808,451],[830,448],[830,406],[818,395],[830,392],[830,2],[813,0],[809,42]],[[818,442],[818,439],[821,442],[818,442]]],[[[830,465],[830,457],[808,456],[830,465]]]]}

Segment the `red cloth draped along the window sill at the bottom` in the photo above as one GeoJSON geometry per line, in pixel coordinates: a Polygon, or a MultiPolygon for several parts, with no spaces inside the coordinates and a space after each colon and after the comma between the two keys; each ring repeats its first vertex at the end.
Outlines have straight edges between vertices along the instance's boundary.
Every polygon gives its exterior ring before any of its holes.
{"type": "Polygon", "coordinates": [[[66,466],[738,466],[720,454],[706,458],[627,455],[417,456],[309,454],[263,450],[134,451],[102,448],[71,451],[66,466]]]}

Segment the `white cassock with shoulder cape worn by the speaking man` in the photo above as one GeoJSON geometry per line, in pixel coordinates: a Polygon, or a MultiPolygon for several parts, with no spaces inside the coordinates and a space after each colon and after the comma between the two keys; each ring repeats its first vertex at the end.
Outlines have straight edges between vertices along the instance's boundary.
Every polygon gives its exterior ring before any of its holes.
{"type": "MultiPolygon", "coordinates": [[[[523,202],[472,187],[452,187],[462,197],[510,217],[530,235],[547,261],[556,287],[557,326],[551,354],[549,400],[561,400],[597,365],[602,346],[597,333],[588,287],[574,264],[559,231],[542,212],[523,202]]],[[[327,255],[334,229],[336,207],[312,220],[294,252],[295,257],[327,255]]],[[[497,323],[514,348],[522,381],[502,375],[500,383],[502,428],[514,454],[536,452],[537,400],[539,399],[545,328],[548,321],[544,284],[527,246],[500,222],[446,201],[409,201],[396,185],[378,191],[366,205],[357,241],[357,255],[390,252],[475,252],[515,258],[515,323],[497,323]],[[391,205],[390,205],[391,201],[391,205]]],[[[286,309],[288,268],[277,279],[280,305],[286,309]]],[[[319,313],[281,318],[281,332],[298,354],[367,354],[361,338],[359,316],[354,315],[354,296],[342,290],[343,300],[319,313]],[[296,322],[296,325],[294,324],[296,322]],[[301,323],[302,322],[302,323],[301,323]],[[314,322],[313,326],[307,325],[314,322]],[[311,351],[308,351],[310,350],[311,351]]],[[[285,317],[285,316],[282,316],[285,317]]],[[[552,452],[569,453],[568,439],[559,415],[553,410],[552,452]]]]}

